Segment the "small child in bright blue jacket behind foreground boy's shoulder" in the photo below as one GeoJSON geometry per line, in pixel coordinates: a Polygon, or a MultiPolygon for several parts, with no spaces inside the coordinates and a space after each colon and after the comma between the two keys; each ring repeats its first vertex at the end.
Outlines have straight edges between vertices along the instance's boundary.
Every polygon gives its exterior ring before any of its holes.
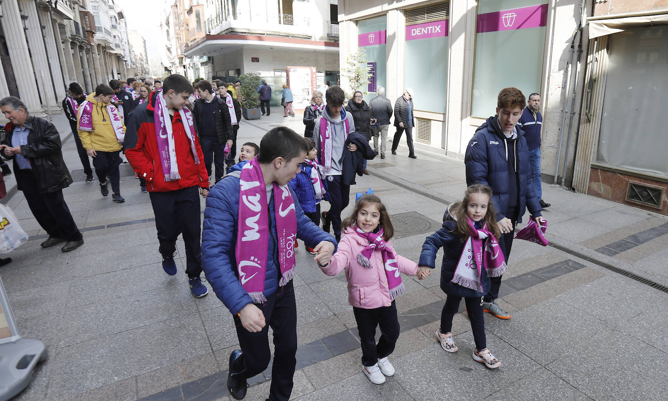
{"type": "MultiPolygon", "coordinates": [[[[295,191],[304,214],[311,219],[311,222],[320,226],[320,201],[325,195],[323,181],[325,176],[321,171],[322,167],[315,160],[318,156],[315,142],[311,138],[305,138],[305,140],[309,144],[309,153],[306,154],[306,159],[301,163],[299,173],[290,180],[289,184],[295,191]]],[[[295,248],[297,246],[297,240],[295,240],[295,248]]],[[[306,247],[306,250],[315,255],[313,249],[306,247]]]]}

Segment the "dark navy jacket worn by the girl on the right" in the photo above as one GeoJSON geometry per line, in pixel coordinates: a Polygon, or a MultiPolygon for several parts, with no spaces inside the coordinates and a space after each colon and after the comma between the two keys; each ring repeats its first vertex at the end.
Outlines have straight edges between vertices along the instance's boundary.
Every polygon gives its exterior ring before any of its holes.
{"type": "MultiPolygon", "coordinates": [[[[452,206],[452,205],[451,205],[452,206]]],[[[420,254],[420,266],[436,267],[436,254],[439,248],[443,248],[443,262],[441,264],[441,290],[448,295],[461,297],[482,297],[484,293],[462,287],[458,284],[452,284],[452,278],[455,275],[457,263],[464,250],[464,242],[456,234],[457,218],[452,214],[450,206],[443,215],[443,226],[424,240],[422,253],[420,254]]],[[[343,242],[343,241],[342,241],[343,242]]],[[[490,289],[490,278],[486,270],[481,270],[482,289],[486,293],[490,289]]]]}

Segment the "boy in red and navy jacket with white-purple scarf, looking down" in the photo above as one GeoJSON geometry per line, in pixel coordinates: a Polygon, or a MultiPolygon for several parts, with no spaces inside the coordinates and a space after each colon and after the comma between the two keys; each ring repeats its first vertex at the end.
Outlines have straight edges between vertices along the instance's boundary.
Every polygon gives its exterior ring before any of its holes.
{"type": "Polygon", "coordinates": [[[208,194],[204,155],[186,103],[194,89],[183,75],[170,75],[128,121],[124,148],[132,169],[146,180],[156,216],[162,268],[176,274],[176,238],[183,234],[186,274],[192,294],[208,294],[200,278],[200,199],[208,194]]]}

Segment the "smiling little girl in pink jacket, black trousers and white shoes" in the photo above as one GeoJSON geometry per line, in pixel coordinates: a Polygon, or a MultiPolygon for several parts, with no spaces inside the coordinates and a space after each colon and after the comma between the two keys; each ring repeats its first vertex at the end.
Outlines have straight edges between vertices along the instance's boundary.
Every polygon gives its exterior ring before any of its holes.
{"type": "Polygon", "coordinates": [[[348,279],[348,302],[353,306],[362,346],[362,370],[373,384],[385,382],[394,374],[387,360],[399,338],[399,319],[394,299],[404,290],[401,275],[431,274],[430,268],[395,254],[390,238],[394,234],[385,206],[376,195],[362,195],[353,214],[343,221],[345,228],[337,253],[321,269],[327,276],[345,270],[348,279]],[[380,326],[380,340],[375,329],[380,326]]]}

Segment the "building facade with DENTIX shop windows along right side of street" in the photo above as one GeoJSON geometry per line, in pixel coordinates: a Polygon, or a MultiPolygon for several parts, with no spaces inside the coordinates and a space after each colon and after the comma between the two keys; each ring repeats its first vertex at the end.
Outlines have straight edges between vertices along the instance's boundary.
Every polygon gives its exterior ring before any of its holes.
{"type": "Polygon", "coordinates": [[[462,159],[518,87],[542,96],[543,185],[668,214],[668,1],[339,0],[338,18],[341,67],[363,49],[373,74],[367,99],[415,91],[418,146],[462,159]]]}

